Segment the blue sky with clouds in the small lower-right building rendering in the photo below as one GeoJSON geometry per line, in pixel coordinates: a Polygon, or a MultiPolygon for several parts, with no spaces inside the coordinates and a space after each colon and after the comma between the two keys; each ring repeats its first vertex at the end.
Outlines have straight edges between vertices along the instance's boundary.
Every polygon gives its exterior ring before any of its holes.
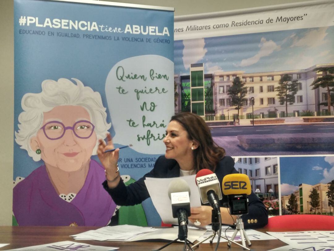
{"type": "Polygon", "coordinates": [[[334,179],[334,156],[280,157],[281,194],[289,195],[299,184],[315,185],[334,179]]]}

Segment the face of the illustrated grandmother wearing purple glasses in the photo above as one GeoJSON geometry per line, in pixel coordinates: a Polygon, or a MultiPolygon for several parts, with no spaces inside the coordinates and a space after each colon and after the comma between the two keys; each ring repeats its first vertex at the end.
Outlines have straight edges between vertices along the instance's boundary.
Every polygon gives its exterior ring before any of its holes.
{"type": "MultiPolygon", "coordinates": [[[[77,121],[81,120],[90,121],[89,113],[81,106],[56,106],[51,111],[44,112],[43,126],[46,124],[45,132],[49,137],[41,129],[30,144],[34,151],[38,148],[41,150],[41,159],[46,165],[72,172],[80,169],[90,160],[97,140],[95,132],[89,138],[83,139],[75,136],[73,130],[67,129],[61,138],[50,139],[57,138],[54,135],[63,129],[57,122],[48,122],[58,121],[66,128],[73,127],[77,121]]],[[[77,135],[81,135],[77,130],[92,130],[92,127],[87,122],[79,122],[75,125],[74,130],[76,130],[77,135]]],[[[83,136],[87,135],[89,134],[83,136]]]]}

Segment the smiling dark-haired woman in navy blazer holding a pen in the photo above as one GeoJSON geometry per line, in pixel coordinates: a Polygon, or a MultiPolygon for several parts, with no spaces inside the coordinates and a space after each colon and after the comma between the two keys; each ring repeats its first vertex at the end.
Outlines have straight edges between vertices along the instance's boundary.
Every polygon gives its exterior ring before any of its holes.
{"type": "MultiPolygon", "coordinates": [[[[134,205],[150,196],[144,183],[145,177],[179,177],[196,174],[200,169],[207,168],[217,175],[221,184],[225,175],[238,173],[234,169],[233,159],[225,156],[225,150],[213,142],[205,121],[193,113],[184,112],[172,116],[163,140],[166,145],[165,155],[157,159],[152,171],[127,187],[120,179],[117,166],[119,149],[104,153],[114,147],[110,135],[107,139],[108,145],[100,140],[98,156],[106,169],[103,186],[118,205],[134,205]]],[[[242,216],[245,228],[267,225],[268,214],[264,204],[253,192],[248,199],[249,214],[242,216]]],[[[227,198],[224,196],[220,204],[224,205],[226,202],[227,198]]],[[[193,223],[200,222],[202,227],[208,225],[211,223],[211,210],[212,208],[206,205],[193,207],[189,220],[193,223]]],[[[221,218],[222,223],[227,225],[232,225],[236,220],[226,207],[221,207],[221,218]]]]}

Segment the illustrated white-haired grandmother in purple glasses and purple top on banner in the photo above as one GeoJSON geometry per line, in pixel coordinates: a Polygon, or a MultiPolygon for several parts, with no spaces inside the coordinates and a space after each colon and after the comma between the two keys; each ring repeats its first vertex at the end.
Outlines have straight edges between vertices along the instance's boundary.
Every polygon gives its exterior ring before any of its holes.
{"type": "Polygon", "coordinates": [[[22,98],[15,141],[44,165],[13,189],[19,226],[106,226],[115,211],[101,185],[104,168],[91,159],[111,127],[106,108],[98,92],[73,80],[45,80],[40,93],[22,98]]]}

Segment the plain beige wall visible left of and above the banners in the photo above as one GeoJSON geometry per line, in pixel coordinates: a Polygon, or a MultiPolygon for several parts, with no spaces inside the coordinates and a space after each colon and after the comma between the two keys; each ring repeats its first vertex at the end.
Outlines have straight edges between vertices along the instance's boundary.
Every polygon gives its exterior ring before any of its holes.
{"type": "MultiPolygon", "coordinates": [[[[303,0],[130,0],[118,2],[174,7],[175,15],[178,16],[302,1],[303,0]]],[[[13,0],[0,0],[0,225],[11,225],[12,223],[14,130],[13,5],[13,0]]]]}

